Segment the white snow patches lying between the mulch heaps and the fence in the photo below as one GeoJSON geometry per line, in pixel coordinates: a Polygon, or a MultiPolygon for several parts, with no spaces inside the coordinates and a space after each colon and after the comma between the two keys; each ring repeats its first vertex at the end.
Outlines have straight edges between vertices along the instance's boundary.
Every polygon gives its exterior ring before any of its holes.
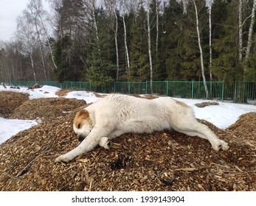
{"type": "MultiPolygon", "coordinates": [[[[29,93],[30,99],[58,97],[55,92],[60,88],[52,86],[44,86],[42,88],[27,90],[27,88],[21,89],[5,89],[0,85],[0,91],[13,91],[18,93],[29,93]]],[[[94,96],[94,93],[87,93],[86,91],[72,91],[67,93],[66,98],[84,99],[87,103],[97,102],[99,98],[94,96]]],[[[244,113],[256,112],[256,106],[249,104],[233,104],[226,102],[218,102],[219,105],[207,106],[198,108],[194,104],[201,102],[209,102],[207,100],[200,99],[177,99],[181,102],[185,102],[195,111],[196,118],[201,118],[210,121],[216,127],[226,129],[229,125],[234,124],[238,120],[239,116],[244,113]]],[[[29,129],[35,126],[37,123],[35,120],[18,120],[18,119],[5,119],[0,118],[0,143],[3,143],[11,136],[24,129],[29,129]]]]}

